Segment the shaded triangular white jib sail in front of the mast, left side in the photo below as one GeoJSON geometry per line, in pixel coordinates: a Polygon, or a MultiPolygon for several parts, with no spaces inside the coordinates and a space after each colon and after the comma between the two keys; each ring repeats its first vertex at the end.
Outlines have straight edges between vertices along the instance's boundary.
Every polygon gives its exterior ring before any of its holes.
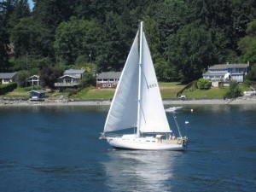
{"type": "Polygon", "coordinates": [[[104,132],[137,126],[138,61],[137,33],[113,96],[104,132]]]}

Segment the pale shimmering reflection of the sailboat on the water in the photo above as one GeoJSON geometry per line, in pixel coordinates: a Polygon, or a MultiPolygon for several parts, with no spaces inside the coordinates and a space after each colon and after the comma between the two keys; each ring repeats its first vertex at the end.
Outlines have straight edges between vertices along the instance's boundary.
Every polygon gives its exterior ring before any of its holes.
{"type": "Polygon", "coordinates": [[[113,191],[172,191],[166,183],[173,177],[178,154],[182,153],[110,150],[110,160],[102,163],[107,185],[113,191]]]}

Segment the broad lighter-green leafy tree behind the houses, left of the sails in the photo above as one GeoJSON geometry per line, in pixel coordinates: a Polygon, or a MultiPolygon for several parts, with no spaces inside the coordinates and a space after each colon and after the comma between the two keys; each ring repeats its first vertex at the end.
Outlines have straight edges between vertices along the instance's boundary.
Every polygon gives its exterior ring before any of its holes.
{"type": "Polygon", "coordinates": [[[72,17],[70,21],[62,22],[55,32],[54,48],[57,61],[73,64],[80,55],[90,61],[90,56],[96,53],[100,31],[95,20],[78,20],[72,17]]]}

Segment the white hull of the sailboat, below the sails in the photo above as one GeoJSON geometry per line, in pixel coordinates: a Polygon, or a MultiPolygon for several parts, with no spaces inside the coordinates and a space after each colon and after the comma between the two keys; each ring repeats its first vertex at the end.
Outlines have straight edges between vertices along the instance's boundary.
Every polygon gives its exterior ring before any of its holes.
{"type": "Polygon", "coordinates": [[[156,137],[106,137],[107,142],[113,148],[132,150],[172,150],[183,151],[186,148],[186,140],[183,138],[159,139],[156,137]]]}

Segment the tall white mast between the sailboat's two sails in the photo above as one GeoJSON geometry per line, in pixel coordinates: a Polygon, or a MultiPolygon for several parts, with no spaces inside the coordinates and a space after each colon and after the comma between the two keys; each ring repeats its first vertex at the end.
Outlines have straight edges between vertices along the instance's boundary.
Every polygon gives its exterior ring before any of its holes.
{"type": "Polygon", "coordinates": [[[139,53],[139,79],[138,79],[138,94],[137,94],[137,137],[140,137],[140,109],[141,109],[141,81],[142,81],[142,64],[143,64],[143,21],[141,22],[140,31],[140,53],[139,53]]]}

